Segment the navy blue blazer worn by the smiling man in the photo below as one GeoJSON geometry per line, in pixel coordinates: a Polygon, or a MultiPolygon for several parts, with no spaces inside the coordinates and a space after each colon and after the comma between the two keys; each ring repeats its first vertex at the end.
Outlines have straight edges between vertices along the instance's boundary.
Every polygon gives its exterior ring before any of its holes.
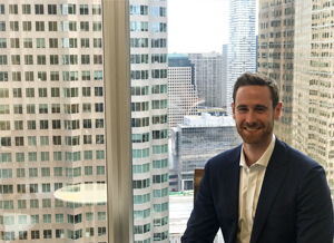
{"type": "MultiPolygon", "coordinates": [[[[242,145],[209,159],[183,243],[225,243],[238,233],[242,145]]],[[[333,206],[323,167],[276,138],[259,194],[250,243],[333,243],[333,206]]]]}

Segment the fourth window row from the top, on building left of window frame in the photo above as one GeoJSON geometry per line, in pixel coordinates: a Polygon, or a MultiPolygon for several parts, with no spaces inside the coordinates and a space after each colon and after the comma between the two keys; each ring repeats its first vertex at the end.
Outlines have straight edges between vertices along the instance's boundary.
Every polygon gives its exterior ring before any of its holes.
{"type": "MultiPolygon", "coordinates": [[[[78,55],[61,55],[61,61],[59,61],[58,55],[50,55],[49,62],[47,64],[46,55],[37,55],[36,64],[37,65],[79,65],[78,55]]],[[[102,55],[94,55],[92,61],[90,61],[90,55],[81,55],[81,64],[80,65],[101,65],[102,64],[102,55]]],[[[7,58],[2,58],[2,60],[7,61],[7,58]]],[[[4,64],[2,61],[2,65],[4,64]]],[[[20,55],[11,55],[11,65],[21,65],[21,56],[20,55]]],[[[33,65],[33,55],[24,55],[24,65],[33,65]]],[[[65,72],[63,72],[65,74],[65,72]]]]}

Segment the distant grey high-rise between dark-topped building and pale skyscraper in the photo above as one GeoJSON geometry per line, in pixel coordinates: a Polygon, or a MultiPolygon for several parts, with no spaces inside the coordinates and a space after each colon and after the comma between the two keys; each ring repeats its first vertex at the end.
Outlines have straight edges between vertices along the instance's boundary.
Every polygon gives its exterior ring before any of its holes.
{"type": "Polygon", "coordinates": [[[188,54],[195,65],[199,106],[222,108],[222,55],[188,54]]]}

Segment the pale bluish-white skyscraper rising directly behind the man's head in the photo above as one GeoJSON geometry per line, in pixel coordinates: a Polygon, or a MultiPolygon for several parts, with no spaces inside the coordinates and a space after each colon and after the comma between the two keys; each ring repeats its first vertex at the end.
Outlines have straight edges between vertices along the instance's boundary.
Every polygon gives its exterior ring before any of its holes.
{"type": "Polygon", "coordinates": [[[227,46],[227,115],[232,115],[233,86],[244,72],[256,71],[256,0],[229,1],[229,43],[227,46]]]}

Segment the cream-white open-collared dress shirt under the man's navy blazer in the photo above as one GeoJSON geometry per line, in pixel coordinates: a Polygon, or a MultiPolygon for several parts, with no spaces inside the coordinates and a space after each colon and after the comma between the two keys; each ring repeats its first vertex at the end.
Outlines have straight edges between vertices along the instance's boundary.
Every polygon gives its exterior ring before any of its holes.
{"type": "Polygon", "coordinates": [[[259,192],[264,175],[269,163],[269,158],[275,147],[275,135],[262,155],[262,157],[253,164],[247,166],[244,155],[244,146],[240,154],[240,181],[239,181],[239,218],[238,218],[238,234],[236,243],[249,243],[254,216],[258,202],[259,192]]]}

